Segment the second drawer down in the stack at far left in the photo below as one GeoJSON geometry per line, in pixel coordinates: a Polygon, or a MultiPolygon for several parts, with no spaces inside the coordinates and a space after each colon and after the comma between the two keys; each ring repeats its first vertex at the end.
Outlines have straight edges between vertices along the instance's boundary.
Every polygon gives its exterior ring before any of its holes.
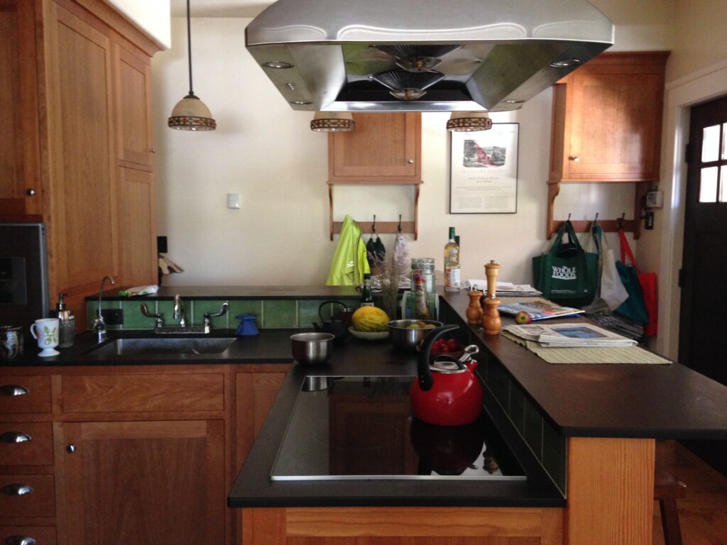
{"type": "Polygon", "coordinates": [[[0,466],[52,464],[53,430],[50,422],[0,422],[0,466]]]}

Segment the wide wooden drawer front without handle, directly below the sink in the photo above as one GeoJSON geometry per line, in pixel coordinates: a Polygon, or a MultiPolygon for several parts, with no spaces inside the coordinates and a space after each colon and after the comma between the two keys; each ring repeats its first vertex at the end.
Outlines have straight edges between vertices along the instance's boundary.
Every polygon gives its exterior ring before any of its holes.
{"type": "Polygon", "coordinates": [[[222,411],[224,386],[221,373],[64,376],[63,411],[222,411]]]}

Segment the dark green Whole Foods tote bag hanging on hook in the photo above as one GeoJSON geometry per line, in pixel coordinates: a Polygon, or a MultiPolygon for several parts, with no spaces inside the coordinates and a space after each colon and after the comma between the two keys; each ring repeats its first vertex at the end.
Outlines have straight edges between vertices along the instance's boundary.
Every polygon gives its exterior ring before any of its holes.
{"type": "Polygon", "coordinates": [[[533,280],[546,299],[565,307],[590,304],[598,285],[598,254],[585,251],[573,224],[563,223],[553,246],[533,258],[533,280]],[[563,235],[569,241],[563,242],[563,235]]]}

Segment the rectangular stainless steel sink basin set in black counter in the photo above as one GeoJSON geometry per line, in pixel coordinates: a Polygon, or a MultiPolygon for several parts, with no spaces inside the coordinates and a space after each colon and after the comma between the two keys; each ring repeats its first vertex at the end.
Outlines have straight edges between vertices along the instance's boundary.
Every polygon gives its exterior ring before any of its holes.
{"type": "Polygon", "coordinates": [[[113,339],[91,350],[89,355],[164,355],[220,354],[235,342],[235,337],[214,339],[113,339]]]}

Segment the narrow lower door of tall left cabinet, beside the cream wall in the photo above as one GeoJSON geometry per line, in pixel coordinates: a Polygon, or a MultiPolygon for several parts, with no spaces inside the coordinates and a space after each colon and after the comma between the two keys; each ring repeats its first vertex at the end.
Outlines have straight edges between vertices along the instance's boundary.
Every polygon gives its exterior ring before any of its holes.
{"type": "Polygon", "coordinates": [[[121,278],[125,284],[157,283],[155,214],[153,173],[119,168],[121,278]]]}

